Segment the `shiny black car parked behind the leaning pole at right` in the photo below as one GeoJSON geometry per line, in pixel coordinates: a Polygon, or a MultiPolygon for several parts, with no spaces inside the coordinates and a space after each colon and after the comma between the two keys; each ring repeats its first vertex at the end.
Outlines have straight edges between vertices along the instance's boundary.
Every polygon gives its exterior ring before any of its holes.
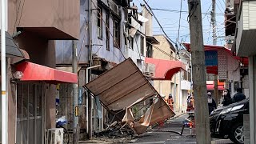
{"type": "Polygon", "coordinates": [[[211,137],[230,138],[234,143],[243,143],[243,114],[249,114],[249,98],[211,112],[211,137]]]}

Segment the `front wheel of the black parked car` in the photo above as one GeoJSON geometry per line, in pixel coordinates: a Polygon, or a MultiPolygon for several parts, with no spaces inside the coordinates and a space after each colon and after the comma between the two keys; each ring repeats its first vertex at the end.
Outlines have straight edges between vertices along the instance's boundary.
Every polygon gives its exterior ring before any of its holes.
{"type": "Polygon", "coordinates": [[[242,123],[238,123],[232,127],[230,132],[230,140],[238,144],[241,144],[244,142],[242,123]]]}

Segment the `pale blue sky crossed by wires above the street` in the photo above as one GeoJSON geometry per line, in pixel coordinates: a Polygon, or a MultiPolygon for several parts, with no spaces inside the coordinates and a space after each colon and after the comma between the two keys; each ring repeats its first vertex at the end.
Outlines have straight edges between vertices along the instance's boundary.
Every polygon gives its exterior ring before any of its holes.
{"type": "MultiPolygon", "coordinates": [[[[167,9],[167,10],[180,10],[182,1],[182,11],[188,11],[187,0],[146,0],[151,8],[167,9]]],[[[143,0],[134,0],[134,4],[138,7],[143,0]]],[[[201,0],[202,7],[202,30],[204,37],[204,44],[212,45],[212,26],[210,26],[210,11],[212,9],[212,0],[201,0]]],[[[225,0],[216,0],[216,27],[217,27],[217,45],[224,46],[225,42],[225,29],[224,29],[224,10],[225,0]]],[[[176,11],[162,11],[153,10],[157,16],[158,21],[161,23],[166,34],[175,42],[178,38],[178,20],[179,12],[176,11]]],[[[190,42],[190,27],[187,22],[188,13],[182,13],[181,28],[179,42],[190,42]]],[[[157,22],[153,22],[153,33],[163,34],[157,22]]]]}

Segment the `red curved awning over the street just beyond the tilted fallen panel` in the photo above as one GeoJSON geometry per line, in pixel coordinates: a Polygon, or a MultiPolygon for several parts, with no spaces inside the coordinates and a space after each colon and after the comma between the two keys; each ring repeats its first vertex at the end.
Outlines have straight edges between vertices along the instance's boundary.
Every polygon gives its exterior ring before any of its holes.
{"type": "Polygon", "coordinates": [[[153,79],[170,80],[178,71],[186,70],[186,66],[180,61],[146,58],[145,62],[155,66],[153,79]]]}

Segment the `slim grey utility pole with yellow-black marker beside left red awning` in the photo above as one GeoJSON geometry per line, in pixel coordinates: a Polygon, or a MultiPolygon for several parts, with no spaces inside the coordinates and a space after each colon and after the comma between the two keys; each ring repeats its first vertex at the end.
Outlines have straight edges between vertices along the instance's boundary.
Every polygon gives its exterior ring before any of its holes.
{"type": "MultiPolygon", "coordinates": [[[[78,74],[77,42],[72,41],[72,71],[78,74]]],[[[73,84],[73,143],[78,143],[79,135],[79,107],[78,107],[78,84],[73,84]]]]}

